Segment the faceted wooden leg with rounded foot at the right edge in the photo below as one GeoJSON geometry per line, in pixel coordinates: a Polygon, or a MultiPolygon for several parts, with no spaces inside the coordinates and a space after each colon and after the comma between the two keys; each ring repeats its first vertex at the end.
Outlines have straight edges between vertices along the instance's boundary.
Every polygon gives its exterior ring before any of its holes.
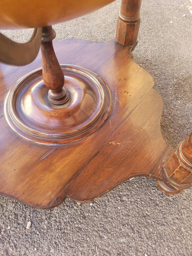
{"type": "Polygon", "coordinates": [[[178,194],[192,186],[192,132],[181,142],[164,165],[168,183],[157,181],[157,186],[167,194],[178,194]]]}

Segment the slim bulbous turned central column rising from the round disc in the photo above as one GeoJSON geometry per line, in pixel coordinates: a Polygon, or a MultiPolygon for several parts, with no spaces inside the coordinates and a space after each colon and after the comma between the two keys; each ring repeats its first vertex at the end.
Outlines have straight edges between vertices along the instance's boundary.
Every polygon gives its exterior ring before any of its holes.
{"type": "Polygon", "coordinates": [[[68,101],[69,95],[63,87],[65,78],[55,55],[52,40],[55,38],[55,30],[52,26],[42,29],[42,72],[45,85],[49,88],[48,99],[56,105],[64,104],[68,101]]]}

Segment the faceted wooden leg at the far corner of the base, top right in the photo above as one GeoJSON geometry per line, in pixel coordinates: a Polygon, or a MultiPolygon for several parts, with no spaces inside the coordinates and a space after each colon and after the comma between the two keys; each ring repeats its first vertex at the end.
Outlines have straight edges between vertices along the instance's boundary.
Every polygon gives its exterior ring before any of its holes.
{"type": "Polygon", "coordinates": [[[122,0],[117,18],[116,41],[122,45],[136,43],[140,26],[141,0],[122,0]]]}

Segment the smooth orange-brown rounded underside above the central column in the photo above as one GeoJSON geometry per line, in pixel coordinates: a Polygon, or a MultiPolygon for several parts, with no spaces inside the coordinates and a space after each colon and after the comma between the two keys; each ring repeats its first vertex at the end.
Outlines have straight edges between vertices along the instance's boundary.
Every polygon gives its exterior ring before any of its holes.
{"type": "Polygon", "coordinates": [[[72,20],[113,0],[1,0],[0,28],[38,28],[72,20]]]}

